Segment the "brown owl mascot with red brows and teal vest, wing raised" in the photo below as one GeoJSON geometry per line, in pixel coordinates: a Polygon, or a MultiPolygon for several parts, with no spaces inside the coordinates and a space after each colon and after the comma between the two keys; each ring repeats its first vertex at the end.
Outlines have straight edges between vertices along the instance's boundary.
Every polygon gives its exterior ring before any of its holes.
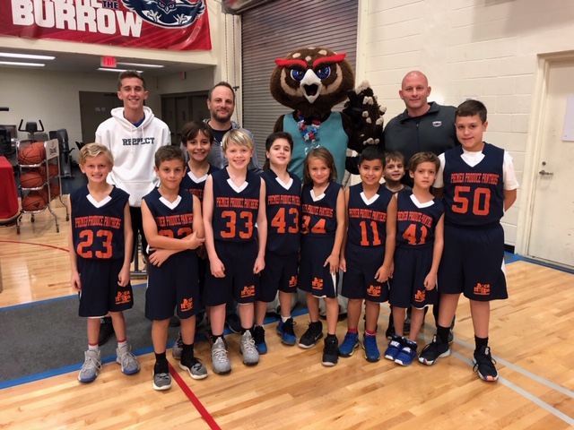
{"type": "Polygon", "coordinates": [[[384,147],[384,109],[378,106],[368,82],[353,90],[355,76],[345,56],[325,47],[306,47],[275,60],[271,95],[294,110],[277,119],[274,131],[293,136],[289,169],[300,177],[305,156],[318,146],[333,154],[339,182],[347,148],[361,152],[370,144],[384,147]],[[332,110],[345,100],[343,112],[332,110]]]}

